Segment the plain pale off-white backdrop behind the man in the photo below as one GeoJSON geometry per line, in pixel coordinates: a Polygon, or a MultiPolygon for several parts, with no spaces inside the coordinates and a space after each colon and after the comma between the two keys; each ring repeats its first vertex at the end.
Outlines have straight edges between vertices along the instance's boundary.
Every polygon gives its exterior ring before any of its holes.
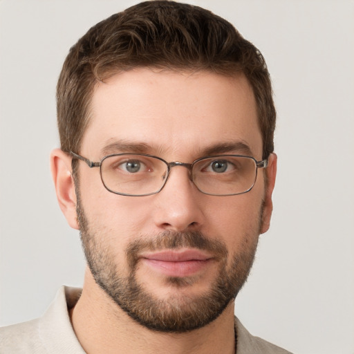
{"type": "MultiPolygon", "coordinates": [[[[49,171],[55,85],[68,49],[137,1],[0,0],[0,324],[81,286],[78,232],[49,171]]],[[[263,53],[278,111],[271,229],[236,299],[254,335],[295,353],[354,353],[354,2],[186,1],[263,53]]]]}

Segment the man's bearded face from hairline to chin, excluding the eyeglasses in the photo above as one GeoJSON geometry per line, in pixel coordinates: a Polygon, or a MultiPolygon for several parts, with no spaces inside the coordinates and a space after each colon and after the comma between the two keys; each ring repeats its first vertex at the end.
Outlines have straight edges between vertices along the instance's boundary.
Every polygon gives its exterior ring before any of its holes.
{"type": "MultiPolygon", "coordinates": [[[[100,83],[80,154],[148,153],[167,162],[209,155],[262,157],[252,89],[243,75],[128,71],[100,83]]],[[[151,196],[108,192],[80,162],[77,211],[95,281],[148,328],[204,326],[248,276],[265,206],[263,171],[236,196],[198,191],[185,167],[151,196]]]]}

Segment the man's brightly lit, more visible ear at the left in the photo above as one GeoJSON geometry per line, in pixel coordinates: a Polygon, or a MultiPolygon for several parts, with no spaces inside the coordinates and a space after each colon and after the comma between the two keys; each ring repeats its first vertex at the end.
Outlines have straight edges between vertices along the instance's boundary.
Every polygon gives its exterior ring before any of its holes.
{"type": "Polygon", "coordinates": [[[68,224],[73,229],[79,230],[75,184],[71,175],[71,156],[60,149],[53,150],[50,153],[50,170],[52,171],[59,207],[62,209],[68,224]]]}

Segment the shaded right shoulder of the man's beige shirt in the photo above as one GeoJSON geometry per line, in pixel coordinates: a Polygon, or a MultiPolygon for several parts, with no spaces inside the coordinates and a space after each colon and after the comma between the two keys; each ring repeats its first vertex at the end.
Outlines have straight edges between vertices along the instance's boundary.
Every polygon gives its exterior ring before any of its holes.
{"type": "Polygon", "coordinates": [[[291,354],[279,346],[251,335],[237,317],[235,317],[235,330],[237,333],[237,354],[291,354]]]}

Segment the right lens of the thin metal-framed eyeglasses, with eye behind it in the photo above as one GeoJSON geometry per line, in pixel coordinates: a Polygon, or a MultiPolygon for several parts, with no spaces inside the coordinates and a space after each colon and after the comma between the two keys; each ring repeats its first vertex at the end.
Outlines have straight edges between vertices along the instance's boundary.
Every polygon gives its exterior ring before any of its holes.
{"type": "Polygon", "coordinates": [[[253,158],[214,156],[196,162],[192,171],[194,184],[205,194],[227,196],[248,192],[257,176],[253,158]]]}

